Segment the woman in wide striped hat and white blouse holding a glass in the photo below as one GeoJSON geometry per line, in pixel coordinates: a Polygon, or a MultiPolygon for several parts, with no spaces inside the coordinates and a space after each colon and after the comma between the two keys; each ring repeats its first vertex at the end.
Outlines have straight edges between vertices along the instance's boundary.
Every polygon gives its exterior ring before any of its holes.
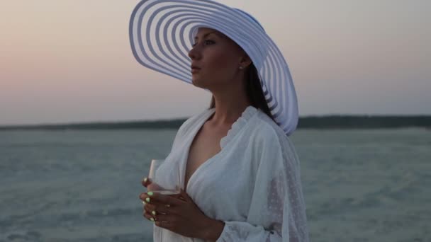
{"type": "Polygon", "coordinates": [[[130,20],[130,43],[145,67],[213,94],[208,110],[181,125],[165,159],[162,183],[179,171],[181,195],[140,194],[155,241],[308,241],[298,157],[288,137],[298,120],[296,95],[262,25],[213,1],[141,1],[130,20]],[[153,23],[159,13],[165,16],[153,23]],[[187,53],[191,76],[179,54],[184,49],[162,30],[162,23],[169,29],[166,16],[194,23],[184,34],[194,39],[187,53]],[[144,39],[137,37],[141,21],[144,39]]]}

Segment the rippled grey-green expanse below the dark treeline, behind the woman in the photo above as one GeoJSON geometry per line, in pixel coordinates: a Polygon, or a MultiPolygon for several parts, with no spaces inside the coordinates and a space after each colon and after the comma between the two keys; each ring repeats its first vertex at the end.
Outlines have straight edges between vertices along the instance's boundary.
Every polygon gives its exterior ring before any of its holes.
{"type": "MultiPolygon", "coordinates": [[[[0,241],[152,241],[138,195],[176,130],[0,132],[0,241]]],[[[311,241],[431,241],[431,132],[297,130],[311,241]]]]}

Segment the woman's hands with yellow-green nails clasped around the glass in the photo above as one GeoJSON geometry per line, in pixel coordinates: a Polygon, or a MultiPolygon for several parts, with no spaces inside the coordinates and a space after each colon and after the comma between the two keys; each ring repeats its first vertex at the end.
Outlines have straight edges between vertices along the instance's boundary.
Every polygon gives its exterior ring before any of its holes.
{"type": "MultiPolygon", "coordinates": [[[[142,180],[142,185],[149,187],[149,179],[142,180]]],[[[154,192],[142,192],[140,199],[144,205],[144,217],[154,219],[155,225],[191,238],[203,238],[215,241],[223,231],[223,221],[206,217],[191,197],[180,190],[179,195],[161,195],[154,192]]]]}

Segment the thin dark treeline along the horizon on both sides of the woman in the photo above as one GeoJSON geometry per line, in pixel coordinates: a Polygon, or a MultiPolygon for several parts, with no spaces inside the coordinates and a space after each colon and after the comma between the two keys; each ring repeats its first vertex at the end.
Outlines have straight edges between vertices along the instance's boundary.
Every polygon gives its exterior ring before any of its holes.
{"type": "MultiPolygon", "coordinates": [[[[0,130],[12,129],[178,129],[186,119],[134,121],[134,122],[90,122],[58,125],[13,125],[0,126],[0,130]]],[[[431,116],[373,116],[330,115],[300,117],[298,129],[374,129],[426,127],[431,129],[431,116]]]]}

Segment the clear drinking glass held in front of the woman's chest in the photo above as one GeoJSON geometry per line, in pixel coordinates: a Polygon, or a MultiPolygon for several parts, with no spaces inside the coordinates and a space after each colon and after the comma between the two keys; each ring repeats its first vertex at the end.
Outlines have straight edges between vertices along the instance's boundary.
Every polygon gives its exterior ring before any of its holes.
{"type": "Polygon", "coordinates": [[[164,160],[152,159],[148,178],[151,180],[150,185],[147,185],[148,192],[179,195],[181,187],[178,164],[167,164],[164,160]]]}

